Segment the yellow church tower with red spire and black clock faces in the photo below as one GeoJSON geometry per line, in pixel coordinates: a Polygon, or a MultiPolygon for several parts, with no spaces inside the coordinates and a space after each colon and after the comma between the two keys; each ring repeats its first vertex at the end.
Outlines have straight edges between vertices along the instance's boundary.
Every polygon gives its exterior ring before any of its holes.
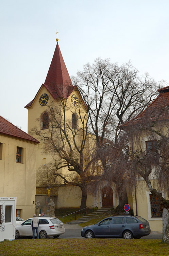
{"type": "MultiPolygon", "coordinates": [[[[25,106],[25,108],[28,109],[28,133],[30,133],[32,129],[36,129],[36,131],[39,134],[47,134],[48,131],[50,130],[49,129],[50,128],[49,127],[50,126],[49,125],[50,124],[50,115],[49,115],[50,106],[53,104],[54,106],[57,107],[57,111],[59,107],[61,108],[61,111],[63,111],[61,105],[65,104],[66,102],[66,104],[68,105],[66,110],[66,118],[69,120],[68,127],[70,127],[70,131],[71,131],[70,134],[79,132],[78,136],[76,137],[77,140],[79,140],[79,138],[81,137],[80,133],[82,133],[84,127],[82,127],[80,122],[78,126],[78,118],[79,118],[79,115],[81,116],[80,117],[81,120],[83,118],[84,119],[86,118],[85,116],[87,116],[86,115],[87,106],[83,102],[78,88],[72,85],[69,73],[67,71],[64,59],[61,54],[60,47],[58,45],[58,38],[56,38],[56,42],[57,43],[56,43],[55,51],[49,67],[49,71],[46,76],[45,83],[40,86],[34,99],[25,106]],[[79,111],[81,111],[81,113],[79,111]]],[[[59,118],[61,118],[61,115],[59,118]]],[[[87,124],[87,121],[85,122],[87,124]]],[[[86,125],[85,125],[85,130],[87,133],[86,125]]],[[[36,137],[35,133],[33,136],[36,137]]],[[[37,139],[39,140],[38,137],[37,139]]],[[[47,144],[47,140],[45,139],[45,136],[44,136],[44,139],[42,138],[40,140],[40,144],[38,144],[36,148],[36,171],[38,171],[40,167],[43,168],[43,166],[44,167],[47,166],[48,163],[51,163],[54,159],[53,156],[49,154],[49,151],[48,151],[49,147],[47,147],[46,151],[44,151],[43,148],[45,144],[47,144]]],[[[60,159],[62,159],[62,157],[60,159]]],[[[60,172],[61,174],[68,172],[68,167],[61,168],[60,172]]],[[[75,179],[78,179],[77,175],[75,176],[75,179]]],[[[64,184],[64,180],[61,178],[59,182],[61,186],[62,184],[64,184]]],[[[79,198],[80,198],[81,190],[79,190],[79,187],[76,187],[75,190],[76,191],[74,191],[74,193],[76,195],[79,194],[79,198]]],[[[47,188],[46,188],[46,193],[47,193],[47,188]]],[[[61,204],[62,205],[59,206],[57,202],[58,208],[67,207],[68,205],[69,207],[72,205],[74,207],[77,207],[77,206],[79,207],[79,202],[77,201],[77,204],[76,204],[76,202],[74,201],[73,194],[72,194],[72,201],[70,199],[70,196],[68,196],[68,194],[70,194],[70,190],[66,192],[67,201],[65,199],[66,197],[63,196],[64,193],[63,191],[60,193],[59,203],[60,205],[61,204]],[[62,202],[64,201],[65,204],[62,203],[61,201],[62,202]]],[[[59,198],[58,194],[57,194],[57,198],[59,198]]]]}

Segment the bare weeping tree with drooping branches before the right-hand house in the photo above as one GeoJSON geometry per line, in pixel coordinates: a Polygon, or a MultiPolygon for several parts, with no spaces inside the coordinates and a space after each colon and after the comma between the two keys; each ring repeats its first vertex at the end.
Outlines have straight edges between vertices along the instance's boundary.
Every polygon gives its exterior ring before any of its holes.
{"type": "MultiPolygon", "coordinates": [[[[128,186],[131,189],[137,181],[145,181],[152,196],[158,199],[158,211],[154,216],[163,216],[162,242],[169,243],[169,101],[168,87],[160,89],[159,96],[130,122],[122,128],[129,137],[128,157],[123,157],[128,186]],[[146,139],[145,139],[146,138],[146,139]],[[145,141],[146,140],[146,141],[145,141]],[[165,197],[160,191],[165,192],[165,197]],[[162,215],[163,212],[163,215],[162,215]]],[[[140,181],[140,182],[138,182],[140,181]]]]}

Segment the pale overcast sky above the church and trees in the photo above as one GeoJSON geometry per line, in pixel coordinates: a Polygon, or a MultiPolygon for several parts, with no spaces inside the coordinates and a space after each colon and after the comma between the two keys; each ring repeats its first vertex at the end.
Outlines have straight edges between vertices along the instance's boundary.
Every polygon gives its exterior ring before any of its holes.
{"type": "Polygon", "coordinates": [[[168,0],[0,0],[0,115],[27,132],[56,46],[69,75],[97,57],[169,83],[168,0]]]}

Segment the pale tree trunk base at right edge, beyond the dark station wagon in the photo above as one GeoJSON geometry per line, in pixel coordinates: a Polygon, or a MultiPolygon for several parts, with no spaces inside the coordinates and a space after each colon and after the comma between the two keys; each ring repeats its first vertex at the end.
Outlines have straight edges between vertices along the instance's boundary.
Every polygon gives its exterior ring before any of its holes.
{"type": "Polygon", "coordinates": [[[163,238],[162,243],[169,243],[169,208],[163,209],[163,238]]]}

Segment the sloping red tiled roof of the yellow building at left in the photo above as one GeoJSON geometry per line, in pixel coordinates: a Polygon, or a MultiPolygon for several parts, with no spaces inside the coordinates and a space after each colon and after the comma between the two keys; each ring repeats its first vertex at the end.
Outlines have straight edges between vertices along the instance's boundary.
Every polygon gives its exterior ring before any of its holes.
{"type": "Polygon", "coordinates": [[[4,134],[7,136],[12,136],[17,139],[24,139],[28,140],[34,143],[39,143],[36,139],[34,139],[32,136],[28,135],[28,133],[22,131],[9,121],[7,121],[5,118],[0,116],[0,134],[4,134]]]}

